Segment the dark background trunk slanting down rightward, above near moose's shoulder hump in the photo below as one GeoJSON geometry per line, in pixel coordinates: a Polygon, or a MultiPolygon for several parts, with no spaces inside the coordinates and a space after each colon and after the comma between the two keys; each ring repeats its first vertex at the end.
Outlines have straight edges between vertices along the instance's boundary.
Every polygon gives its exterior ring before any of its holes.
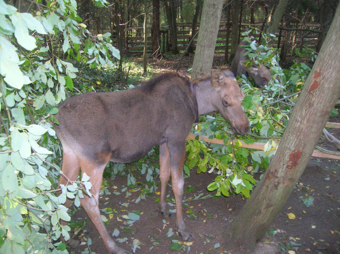
{"type": "Polygon", "coordinates": [[[174,54],[178,53],[177,48],[177,4],[174,1],[166,1],[163,0],[165,13],[167,15],[168,24],[169,24],[169,33],[170,33],[170,41],[171,41],[171,51],[174,54]]]}

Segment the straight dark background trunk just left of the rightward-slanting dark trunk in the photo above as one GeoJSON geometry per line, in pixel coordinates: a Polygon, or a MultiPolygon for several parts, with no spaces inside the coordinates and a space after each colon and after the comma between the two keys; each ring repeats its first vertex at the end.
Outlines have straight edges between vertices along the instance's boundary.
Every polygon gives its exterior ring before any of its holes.
{"type": "Polygon", "coordinates": [[[161,32],[159,29],[159,0],[153,0],[153,26],[151,29],[152,55],[160,56],[161,53],[161,32]]]}

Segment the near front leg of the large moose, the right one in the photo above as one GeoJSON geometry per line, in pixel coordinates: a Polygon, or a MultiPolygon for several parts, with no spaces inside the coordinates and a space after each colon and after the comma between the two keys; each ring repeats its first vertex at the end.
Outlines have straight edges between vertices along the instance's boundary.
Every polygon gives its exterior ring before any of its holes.
{"type": "Polygon", "coordinates": [[[183,162],[186,153],[185,142],[183,144],[176,144],[168,146],[170,150],[170,171],[172,190],[176,200],[176,229],[184,240],[189,240],[192,235],[186,231],[186,225],[183,219],[183,162]]]}

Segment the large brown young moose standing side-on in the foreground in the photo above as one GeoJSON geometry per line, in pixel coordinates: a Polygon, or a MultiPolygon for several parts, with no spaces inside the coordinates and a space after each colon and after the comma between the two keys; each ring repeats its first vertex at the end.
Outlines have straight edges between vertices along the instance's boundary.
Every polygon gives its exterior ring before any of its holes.
{"type": "Polygon", "coordinates": [[[100,216],[102,172],[109,161],[136,161],[155,145],[159,145],[160,212],[169,215],[165,190],[171,175],[176,229],[185,240],[192,237],[185,230],[182,198],[186,138],[193,122],[198,114],[218,110],[234,132],[243,135],[249,131],[249,121],[241,108],[244,94],[234,75],[226,74],[228,77],[212,70],[210,79],[192,84],[185,76],[167,72],[130,90],[86,93],[59,105],[59,125],[54,125],[63,146],[59,185],[75,181],[79,169],[90,176],[92,197],[85,195],[81,204],[110,253],[127,252],[116,245],[100,216]]]}

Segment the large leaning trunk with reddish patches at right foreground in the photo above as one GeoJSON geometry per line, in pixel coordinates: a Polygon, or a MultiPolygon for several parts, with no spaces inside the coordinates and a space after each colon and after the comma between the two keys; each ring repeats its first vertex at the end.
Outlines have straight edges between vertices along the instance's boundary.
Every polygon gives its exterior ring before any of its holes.
{"type": "Polygon", "coordinates": [[[340,96],[340,5],[267,171],[237,218],[225,228],[224,250],[254,250],[303,173],[340,96]]]}

